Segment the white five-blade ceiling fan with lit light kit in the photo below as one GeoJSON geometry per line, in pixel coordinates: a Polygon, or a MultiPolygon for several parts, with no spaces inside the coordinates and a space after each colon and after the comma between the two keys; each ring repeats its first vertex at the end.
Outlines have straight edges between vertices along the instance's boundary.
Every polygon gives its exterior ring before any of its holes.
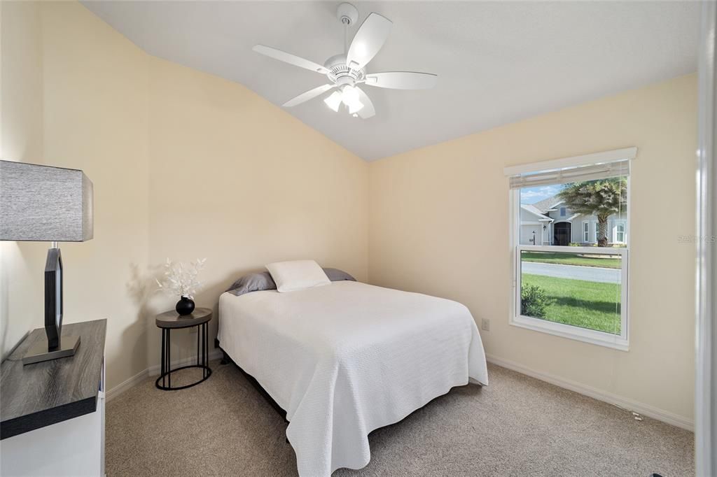
{"type": "Polygon", "coordinates": [[[267,57],[326,74],[328,77],[330,81],[328,84],[303,92],[282,106],[300,105],[336,88],[337,90],[324,100],[328,107],[338,112],[343,103],[348,108],[349,114],[368,119],[376,114],[376,110],[369,96],[358,85],[394,90],[427,90],[435,86],[437,76],[431,73],[404,71],[367,73],[364,67],[376,56],[389,37],[391,20],[372,12],[359,26],[351,45],[348,45],[348,26],[359,19],[359,10],[351,4],[344,3],[338,6],[336,16],[344,26],[344,52],[327,59],[323,66],[262,44],[257,44],[253,48],[255,52],[265,54],[267,57]]]}

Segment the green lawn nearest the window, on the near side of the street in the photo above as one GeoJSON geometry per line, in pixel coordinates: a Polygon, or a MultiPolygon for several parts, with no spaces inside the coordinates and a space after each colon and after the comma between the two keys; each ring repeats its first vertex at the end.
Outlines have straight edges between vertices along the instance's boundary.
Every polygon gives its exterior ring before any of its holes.
{"type": "Polygon", "coordinates": [[[531,274],[523,274],[523,284],[540,286],[553,300],[545,319],[620,334],[619,284],[531,274]]]}

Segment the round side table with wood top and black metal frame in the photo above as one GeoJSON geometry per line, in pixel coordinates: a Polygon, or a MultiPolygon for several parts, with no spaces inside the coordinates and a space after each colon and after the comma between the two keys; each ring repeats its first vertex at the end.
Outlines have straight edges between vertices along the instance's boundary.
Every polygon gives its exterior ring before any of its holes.
{"type": "Polygon", "coordinates": [[[184,317],[180,316],[172,310],[171,312],[164,312],[158,314],[156,317],[157,327],[162,330],[162,364],[161,372],[159,377],[154,382],[156,387],[161,390],[174,391],[179,389],[186,389],[203,382],[212,375],[212,368],[209,367],[209,321],[212,319],[212,310],[209,308],[196,308],[192,314],[187,314],[184,317]],[[182,366],[171,370],[171,357],[170,357],[170,341],[169,332],[172,329],[179,328],[191,328],[198,327],[196,332],[196,365],[182,366]],[[201,339],[200,335],[201,334],[201,339]],[[201,362],[200,362],[201,356],[201,362]],[[201,380],[192,382],[189,385],[172,387],[172,373],[179,370],[184,370],[188,367],[199,367],[201,368],[201,380]],[[161,385],[159,382],[162,382],[161,385]]]}

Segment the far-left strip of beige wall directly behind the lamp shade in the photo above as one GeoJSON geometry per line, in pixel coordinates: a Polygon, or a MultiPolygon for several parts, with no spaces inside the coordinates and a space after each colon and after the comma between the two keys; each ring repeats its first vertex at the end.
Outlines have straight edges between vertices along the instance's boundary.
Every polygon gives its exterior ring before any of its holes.
{"type": "MultiPolygon", "coordinates": [[[[42,37],[37,4],[0,2],[0,51],[0,158],[42,163],[42,37]]],[[[46,249],[46,244],[0,241],[2,359],[30,329],[42,325],[46,249]]]]}

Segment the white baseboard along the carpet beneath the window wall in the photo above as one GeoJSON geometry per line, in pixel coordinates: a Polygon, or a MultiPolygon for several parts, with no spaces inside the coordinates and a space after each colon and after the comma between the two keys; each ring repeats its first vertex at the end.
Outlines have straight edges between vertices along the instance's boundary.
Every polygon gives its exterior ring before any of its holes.
{"type": "Polygon", "coordinates": [[[596,387],[581,384],[580,382],[566,380],[563,377],[551,375],[547,372],[532,370],[531,368],[518,364],[517,362],[504,360],[503,358],[497,356],[486,354],[485,359],[488,360],[488,362],[492,362],[494,365],[507,367],[509,370],[517,371],[523,375],[528,375],[538,380],[549,382],[552,385],[564,387],[567,390],[579,392],[582,395],[592,397],[593,399],[603,401],[604,403],[615,405],[618,408],[634,411],[635,413],[645,415],[648,418],[660,420],[663,423],[668,423],[678,428],[691,430],[693,432],[695,430],[695,423],[693,420],[685,418],[684,416],[670,413],[666,410],[657,409],[644,403],[638,403],[637,401],[628,399],[627,397],[614,395],[610,392],[599,390],[596,387]]]}

